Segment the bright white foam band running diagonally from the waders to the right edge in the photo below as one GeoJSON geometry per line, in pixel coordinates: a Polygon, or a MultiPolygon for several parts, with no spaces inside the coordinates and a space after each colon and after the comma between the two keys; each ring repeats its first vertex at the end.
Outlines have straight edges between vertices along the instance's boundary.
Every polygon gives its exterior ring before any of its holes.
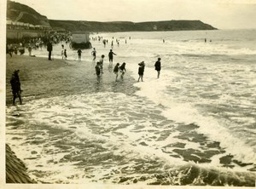
{"type": "MultiPolygon", "coordinates": [[[[172,77],[172,75],[170,75],[172,77]]],[[[143,95],[153,100],[156,104],[166,107],[163,112],[165,117],[175,120],[179,123],[196,123],[200,126],[197,129],[201,134],[208,135],[212,140],[220,141],[220,144],[227,152],[236,156],[240,161],[256,162],[256,151],[251,146],[247,146],[247,142],[237,139],[236,135],[227,127],[231,122],[224,122],[211,116],[204,116],[195,108],[195,102],[180,103],[173,101],[166,94],[166,77],[163,74],[159,80],[152,79],[144,83],[137,83],[140,87],[138,95],[143,95]],[[235,145],[234,145],[235,144],[235,145]],[[243,146],[244,151],[241,151],[243,146]]],[[[226,96],[224,101],[233,99],[231,96],[226,96]]],[[[245,102],[246,103],[246,102],[245,102]]],[[[250,103],[250,105],[252,105],[250,103]]],[[[238,116],[241,116],[240,114],[238,116]]],[[[240,123],[255,123],[253,117],[230,117],[231,120],[236,119],[240,123]]],[[[242,136],[241,136],[242,137],[242,136]]]]}

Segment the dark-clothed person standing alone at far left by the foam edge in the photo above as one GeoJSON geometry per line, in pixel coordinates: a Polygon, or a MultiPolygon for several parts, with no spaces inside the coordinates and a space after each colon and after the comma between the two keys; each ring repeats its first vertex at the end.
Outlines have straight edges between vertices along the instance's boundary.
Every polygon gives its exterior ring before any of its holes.
{"type": "Polygon", "coordinates": [[[22,100],[21,100],[21,92],[22,90],[20,89],[20,77],[19,77],[19,73],[20,70],[15,70],[15,72],[13,73],[11,79],[10,79],[10,83],[11,83],[11,87],[12,87],[12,93],[13,93],[13,105],[15,105],[15,99],[18,96],[19,100],[20,100],[20,105],[22,104],[22,100]]]}

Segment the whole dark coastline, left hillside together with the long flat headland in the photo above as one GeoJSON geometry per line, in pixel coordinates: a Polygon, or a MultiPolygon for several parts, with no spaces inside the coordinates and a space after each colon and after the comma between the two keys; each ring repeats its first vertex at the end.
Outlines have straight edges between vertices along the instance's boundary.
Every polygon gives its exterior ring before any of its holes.
{"type": "Polygon", "coordinates": [[[12,1],[7,1],[7,20],[51,28],[55,31],[189,31],[216,30],[200,20],[166,20],[149,22],[96,22],[83,20],[48,20],[34,9],[12,1]]]}

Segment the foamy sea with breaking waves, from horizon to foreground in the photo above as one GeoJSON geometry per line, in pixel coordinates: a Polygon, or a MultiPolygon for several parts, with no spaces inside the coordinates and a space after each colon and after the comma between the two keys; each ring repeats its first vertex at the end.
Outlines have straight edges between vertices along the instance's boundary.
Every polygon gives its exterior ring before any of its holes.
{"type": "MultiPolygon", "coordinates": [[[[39,183],[255,186],[256,30],[94,33],[113,41],[134,92],[102,91],[6,107],[6,141],[39,183]],[[119,45],[117,43],[119,41],[119,45]],[[154,63],[161,58],[160,78],[154,63]],[[138,63],[145,62],[143,82],[138,63]],[[22,115],[22,116],[19,116],[22,115]]],[[[108,40],[106,47],[102,39],[108,40]]],[[[68,60],[78,60],[67,49],[68,60]]],[[[82,60],[91,61],[83,49],[82,60]]],[[[32,54],[47,57],[45,48],[32,54]]],[[[26,54],[25,54],[26,55],[26,54]]],[[[61,59],[55,44],[54,59],[61,59]]]]}

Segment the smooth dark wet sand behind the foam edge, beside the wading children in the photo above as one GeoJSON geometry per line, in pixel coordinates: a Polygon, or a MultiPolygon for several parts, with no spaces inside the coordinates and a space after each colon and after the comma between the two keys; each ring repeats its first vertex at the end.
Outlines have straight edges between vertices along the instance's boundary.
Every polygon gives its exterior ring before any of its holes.
{"type": "MultiPolygon", "coordinates": [[[[125,74],[124,80],[115,82],[113,69],[108,70],[105,60],[100,83],[97,82],[95,62],[78,60],[47,60],[26,55],[7,56],[6,103],[11,105],[12,93],[9,79],[15,69],[20,70],[20,83],[24,103],[29,99],[40,99],[67,94],[88,94],[112,91],[133,94],[136,80],[125,74]]],[[[18,100],[16,101],[16,103],[18,100]]]]}

